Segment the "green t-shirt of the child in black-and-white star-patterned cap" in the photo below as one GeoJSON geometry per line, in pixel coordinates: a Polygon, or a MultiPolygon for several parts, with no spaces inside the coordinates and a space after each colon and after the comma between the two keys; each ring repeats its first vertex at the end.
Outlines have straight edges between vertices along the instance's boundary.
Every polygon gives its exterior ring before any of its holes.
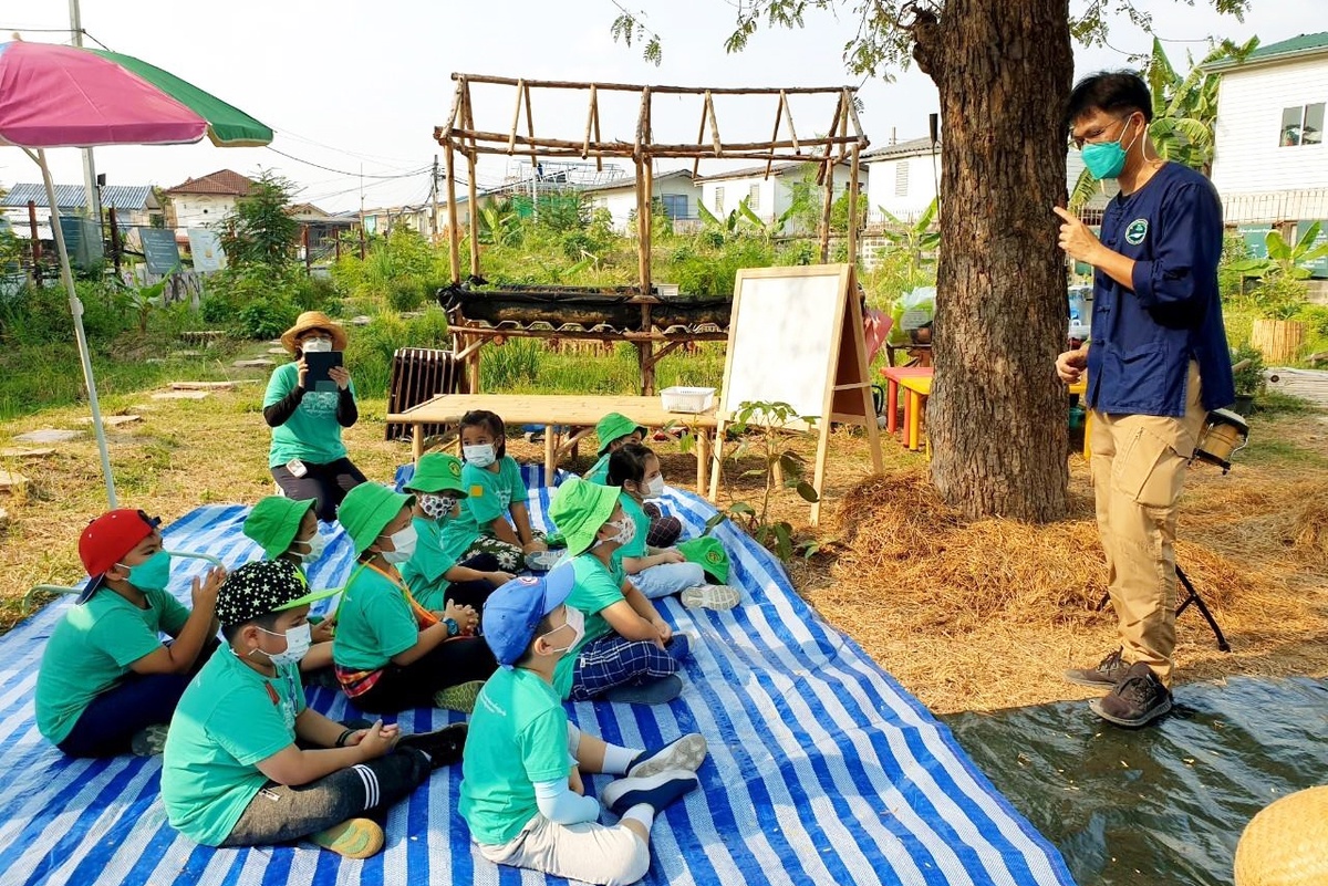
{"type": "Polygon", "coordinates": [[[179,699],[162,755],[162,800],[171,826],[219,846],[268,783],[258,764],[295,743],[304,710],[297,664],[268,679],[222,646],[179,699]]]}

